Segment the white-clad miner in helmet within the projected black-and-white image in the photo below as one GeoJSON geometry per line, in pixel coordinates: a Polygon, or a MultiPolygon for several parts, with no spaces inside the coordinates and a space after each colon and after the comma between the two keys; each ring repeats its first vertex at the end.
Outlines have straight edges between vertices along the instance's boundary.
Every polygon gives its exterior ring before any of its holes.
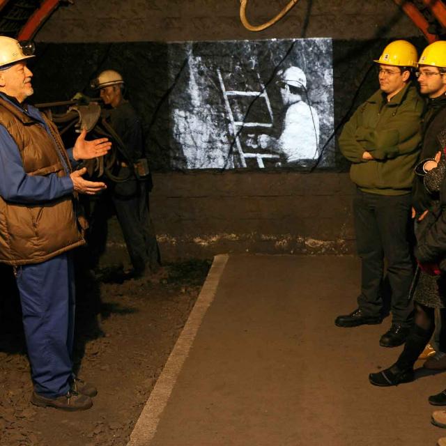
{"type": "Polygon", "coordinates": [[[319,117],[307,104],[307,77],[298,67],[279,72],[277,86],[286,108],[282,133],[278,138],[262,134],[262,148],[270,148],[282,156],[282,164],[301,164],[318,156],[319,117]]]}

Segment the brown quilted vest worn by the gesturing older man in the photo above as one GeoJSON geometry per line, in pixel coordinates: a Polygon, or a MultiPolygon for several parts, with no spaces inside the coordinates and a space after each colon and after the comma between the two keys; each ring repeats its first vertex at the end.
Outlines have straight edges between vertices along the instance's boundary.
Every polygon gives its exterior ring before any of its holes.
{"type": "MultiPolygon", "coordinates": [[[[58,151],[68,167],[70,161],[61,137],[56,126],[43,118],[52,137],[38,121],[0,98],[0,124],[15,140],[26,174],[66,176],[58,151]]],[[[0,262],[41,263],[83,245],[73,205],[72,195],[36,204],[11,203],[0,197],[0,262]]]]}

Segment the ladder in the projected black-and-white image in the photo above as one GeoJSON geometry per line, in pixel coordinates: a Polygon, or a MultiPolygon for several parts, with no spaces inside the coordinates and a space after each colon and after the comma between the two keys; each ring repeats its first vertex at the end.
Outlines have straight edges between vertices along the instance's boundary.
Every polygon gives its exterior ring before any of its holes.
{"type": "Polygon", "coordinates": [[[266,93],[266,89],[261,82],[259,74],[257,73],[257,77],[259,78],[259,84],[261,87],[261,91],[236,91],[236,90],[226,90],[226,86],[224,86],[222,73],[220,69],[217,68],[218,79],[220,80],[220,87],[222,89],[223,98],[224,98],[224,106],[226,107],[226,112],[229,116],[229,131],[231,132],[233,138],[236,141],[236,149],[238,155],[240,155],[240,164],[241,167],[247,167],[246,160],[249,158],[255,158],[257,165],[261,168],[265,167],[263,164],[263,160],[266,159],[277,159],[279,160],[279,155],[273,155],[272,153],[259,153],[259,152],[249,152],[243,150],[242,143],[240,141],[240,128],[272,128],[272,109],[270,104],[270,98],[268,98],[268,94],[266,93]],[[268,108],[268,112],[270,114],[271,122],[270,123],[256,123],[256,122],[247,122],[247,121],[236,121],[234,118],[234,114],[231,108],[231,102],[229,102],[229,98],[243,98],[243,97],[252,97],[253,99],[263,98],[266,102],[266,107],[268,108]]]}

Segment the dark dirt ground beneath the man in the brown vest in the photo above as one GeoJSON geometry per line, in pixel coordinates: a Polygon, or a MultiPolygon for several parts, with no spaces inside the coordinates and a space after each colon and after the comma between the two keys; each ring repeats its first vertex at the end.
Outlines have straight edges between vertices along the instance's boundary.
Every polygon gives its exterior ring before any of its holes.
{"type": "Polygon", "coordinates": [[[0,445],[126,445],[209,267],[174,263],[144,279],[113,268],[78,274],[75,369],[98,387],[93,408],[79,413],[29,403],[20,304],[12,271],[1,267],[0,445]]]}

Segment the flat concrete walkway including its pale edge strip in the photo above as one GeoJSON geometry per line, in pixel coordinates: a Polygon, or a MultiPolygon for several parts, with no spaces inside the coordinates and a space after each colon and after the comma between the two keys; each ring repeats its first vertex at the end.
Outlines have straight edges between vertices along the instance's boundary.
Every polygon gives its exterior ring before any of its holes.
{"type": "Polygon", "coordinates": [[[434,446],[446,374],[380,388],[390,325],[337,328],[355,308],[350,256],[217,256],[131,446],[434,446]]]}

